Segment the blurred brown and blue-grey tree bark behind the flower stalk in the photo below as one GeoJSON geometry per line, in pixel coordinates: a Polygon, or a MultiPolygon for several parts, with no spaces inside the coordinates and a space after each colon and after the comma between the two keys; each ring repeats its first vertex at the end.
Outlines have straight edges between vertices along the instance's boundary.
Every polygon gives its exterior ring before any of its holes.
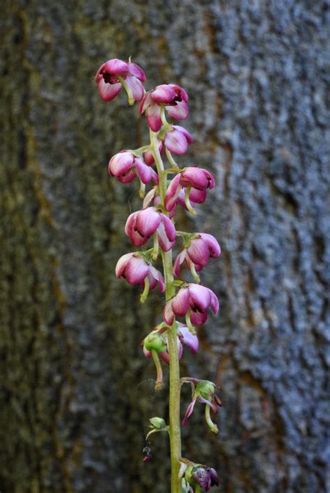
{"type": "Polygon", "coordinates": [[[151,462],[141,452],[148,419],[167,417],[167,380],[156,393],[140,346],[162,297],[141,305],[116,280],[141,202],[107,174],[113,154],[148,143],[146,121],[94,81],[129,56],[147,89],[187,90],[194,145],[178,161],[217,180],[180,217],[223,252],[202,274],[221,312],[181,368],[220,386],[220,433],[196,405],[182,453],[217,469],[214,492],[325,492],[329,0],[1,7],[1,493],[169,490],[165,434],[151,462]]]}

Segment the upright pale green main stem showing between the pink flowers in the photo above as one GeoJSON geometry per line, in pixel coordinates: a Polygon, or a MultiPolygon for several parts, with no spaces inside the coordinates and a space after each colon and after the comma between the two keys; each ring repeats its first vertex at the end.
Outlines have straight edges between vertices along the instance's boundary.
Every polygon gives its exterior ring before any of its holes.
{"type": "MultiPolygon", "coordinates": [[[[159,175],[159,195],[164,205],[166,193],[166,174],[164,173],[164,164],[159,153],[157,145],[157,134],[150,130],[150,143],[152,154],[157,166],[159,175]]],[[[165,296],[166,301],[175,295],[175,286],[173,284],[173,259],[172,250],[169,252],[162,251],[162,260],[164,266],[165,279],[165,296]]],[[[180,458],[181,458],[181,428],[180,428],[180,366],[178,356],[178,336],[176,332],[175,321],[167,331],[168,353],[170,357],[170,398],[169,398],[169,416],[170,416],[170,445],[171,445],[171,493],[181,493],[181,480],[179,479],[180,458]]]]}

